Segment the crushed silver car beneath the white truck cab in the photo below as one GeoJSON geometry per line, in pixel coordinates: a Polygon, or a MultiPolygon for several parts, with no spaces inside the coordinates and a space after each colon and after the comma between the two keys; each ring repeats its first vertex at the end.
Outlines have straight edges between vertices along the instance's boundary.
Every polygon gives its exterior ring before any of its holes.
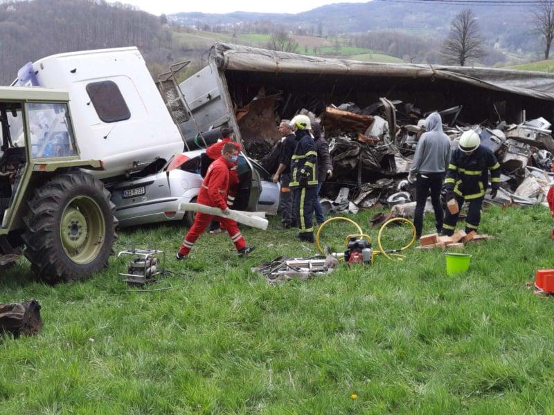
{"type": "MultiPolygon", "coordinates": [[[[194,212],[179,211],[179,203],[194,203],[211,160],[204,149],[175,154],[160,172],[118,183],[111,189],[120,227],[163,221],[193,222],[194,212]]],[[[276,214],[280,188],[255,160],[240,154],[240,185],[235,210],[276,214]]]]}

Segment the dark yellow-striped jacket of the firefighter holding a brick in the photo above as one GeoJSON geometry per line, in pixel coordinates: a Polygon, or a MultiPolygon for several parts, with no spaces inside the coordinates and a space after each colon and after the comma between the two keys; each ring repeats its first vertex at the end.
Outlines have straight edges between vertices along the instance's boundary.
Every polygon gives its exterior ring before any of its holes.
{"type": "Polygon", "coordinates": [[[460,149],[452,151],[447,168],[445,190],[453,191],[466,200],[485,196],[490,187],[500,187],[500,165],[490,149],[479,146],[473,154],[465,154],[460,149]]]}

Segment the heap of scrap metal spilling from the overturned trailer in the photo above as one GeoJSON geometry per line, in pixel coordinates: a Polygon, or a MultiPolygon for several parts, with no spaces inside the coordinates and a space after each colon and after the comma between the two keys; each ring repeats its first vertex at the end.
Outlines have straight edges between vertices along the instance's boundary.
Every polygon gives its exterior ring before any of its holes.
{"type": "MultiPolygon", "coordinates": [[[[239,110],[242,115],[239,125],[243,139],[246,138],[247,151],[258,158],[264,156],[262,164],[269,172],[276,169],[278,157],[278,151],[271,153],[268,149],[268,145],[271,148],[278,142],[276,99],[276,95],[257,98],[247,111],[239,110]],[[262,124],[263,131],[252,131],[249,128],[252,119],[261,116],[266,120],[262,124]],[[260,137],[265,139],[260,140],[260,137]]],[[[306,109],[298,109],[296,113],[304,113],[312,121],[321,122],[329,143],[334,171],[332,180],[323,185],[321,192],[322,204],[327,210],[356,213],[380,205],[396,208],[402,205],[396,213],[410,216],[415,208],[415,189],[407,183],[406,176],[430,112],[414,104],[380,98],[379,102],[365,108],[348,102],[338,107],[330,104],[319,114],[306,109]]],[[[462,120],[462,106],[439,113],[453,149],[463,131],[474,129],[481,137],[481,145],[492,149],[497,156],[502,176],[495,203],[535,205],[545,202],[554,158],[554,140],[547,120],[538,118],[520,124],[485,120],[481,124],[467,124],[462,120]]]]}

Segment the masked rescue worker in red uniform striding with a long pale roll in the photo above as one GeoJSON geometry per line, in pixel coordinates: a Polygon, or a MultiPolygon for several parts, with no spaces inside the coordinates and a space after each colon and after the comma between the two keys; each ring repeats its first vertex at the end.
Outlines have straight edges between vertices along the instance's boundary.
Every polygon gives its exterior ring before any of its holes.
{"type": "MultiPolygon", "coordinates": [[[[213,208],[220,208],[224,215],[229,214],[231,210],[226,201],[227,190],[229,189],[229,171],[237,160],[237,147],[233,142],[227,142],[223,146],[222,156],[208,167],[208,172],[206,173],[204,181],[202,181],[202,187],[198,194],[197,203],[213,208]]],[[[196,240],[202,232],[208,228],[213,218],[214,216],[211,214],[197,212],[193,226],[188,230],[181,244],[181,248],[177,252],[177,260],[186,259],[196,240]]],[[[254,250],[253,246],[247,246],[247,242],[244,240],[244,237],[242,237],[235,221],[223,216],[220,217],[219,220],[227,233],[229,233],[229,237],[231,237],[231,240],[235,244],[235,248],[237,248],[240,257],[254,250]]]]}

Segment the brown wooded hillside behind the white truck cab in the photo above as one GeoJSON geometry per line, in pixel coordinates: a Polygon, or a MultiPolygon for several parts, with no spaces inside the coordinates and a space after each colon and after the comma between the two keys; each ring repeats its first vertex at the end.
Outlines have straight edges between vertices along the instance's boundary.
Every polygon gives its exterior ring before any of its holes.
{"type": "Polygon", "coordinates": [[[0,84],[26,62],[73,50],[137,46],[154,73],[176,59],[160,18],[93,0],[0,2],[0,84]]]}

